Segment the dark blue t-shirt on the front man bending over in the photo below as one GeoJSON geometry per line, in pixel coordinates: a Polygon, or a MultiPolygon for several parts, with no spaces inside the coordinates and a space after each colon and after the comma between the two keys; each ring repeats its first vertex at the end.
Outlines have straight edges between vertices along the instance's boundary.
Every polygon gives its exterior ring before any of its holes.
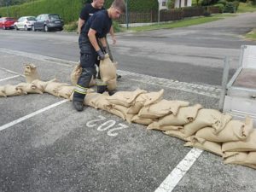
{"type": "Polygon", "coordinates": [[[87,36],[90,28],[92,28],[96,31],[96,38],[104,38],[111,26],[112,20],[108,16],[108,10],[100,10],[92,15],[86,25],[82,27],[81,34],[87,36]]]}

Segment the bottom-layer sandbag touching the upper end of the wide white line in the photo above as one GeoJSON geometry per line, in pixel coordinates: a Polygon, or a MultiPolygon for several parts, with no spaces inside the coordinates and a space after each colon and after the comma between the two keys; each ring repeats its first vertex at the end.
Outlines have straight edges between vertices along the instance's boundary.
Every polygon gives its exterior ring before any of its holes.
{"type": "Polygon", "coordinates": [[[211,152],[212,154],[223,156],[220,143],[209,142],[205,139],[196,138],[196,137],[189,137],[189,139],[190,141],[185,143],[184,146],[201,148],[203,150],[211,152]]]}

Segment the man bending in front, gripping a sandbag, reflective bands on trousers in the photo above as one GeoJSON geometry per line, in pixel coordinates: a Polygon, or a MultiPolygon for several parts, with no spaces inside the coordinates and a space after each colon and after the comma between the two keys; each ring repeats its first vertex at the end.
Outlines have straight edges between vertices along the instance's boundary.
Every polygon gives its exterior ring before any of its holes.
{"type": "MultiPolygon", "coordinates": [[[[79,35],[79,48],[80,65],[83,69],[73,94],[73,107],[78,111],[82,111],[84,108],[86,90],[89,87],[91,77],[96,74],[95,64],[99,63],[97,58],[103,60],[104,54],[108,53],[106,35],[112,26],[112,19],[118,19],[123,13],[125,13],[125,1],[114,0],[108,10],[97,11],[82,26],[79,35]],[[102,48],[99,46],[99,42],[102,44],[102,48]]],[[[103,82],[99,84],[98,81],[97,92],[103,93],[105,90],[107,90],[107,85],[103,82]]]]}

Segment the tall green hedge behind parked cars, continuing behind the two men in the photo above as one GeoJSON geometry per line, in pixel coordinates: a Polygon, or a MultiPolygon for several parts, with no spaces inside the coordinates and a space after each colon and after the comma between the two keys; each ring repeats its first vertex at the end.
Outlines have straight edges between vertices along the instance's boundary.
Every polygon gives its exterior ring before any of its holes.
{"type": "MultiPolygon", "coordinates": [[[[125,0],[127,1],[127,0],[125,0]]],[[[106,0],[105,7],[108,8],[113,0],[106,0]]],[[[59,14],[64,22],[79,19],[79,13],[84,6],[84,0],[37,0],[21,5],[0,8],[0,15],[19,18],[25,15],[59,14]]],[[[128,0],[129,11],[157,10],[158,0],[128,0]]]]}

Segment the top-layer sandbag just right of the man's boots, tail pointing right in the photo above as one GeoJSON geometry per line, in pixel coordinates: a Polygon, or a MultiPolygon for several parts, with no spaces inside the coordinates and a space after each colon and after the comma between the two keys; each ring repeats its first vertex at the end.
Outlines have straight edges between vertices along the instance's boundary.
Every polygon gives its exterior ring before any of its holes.
{"type": "Polygon", "coordinates": [[[108,102],[116,105],[122,105],[126,108],[131,106],[131,103],[142,93],[147,92],[146,90],[134,90],[134,91],[119,91],[108,97],[108,102]]]}

